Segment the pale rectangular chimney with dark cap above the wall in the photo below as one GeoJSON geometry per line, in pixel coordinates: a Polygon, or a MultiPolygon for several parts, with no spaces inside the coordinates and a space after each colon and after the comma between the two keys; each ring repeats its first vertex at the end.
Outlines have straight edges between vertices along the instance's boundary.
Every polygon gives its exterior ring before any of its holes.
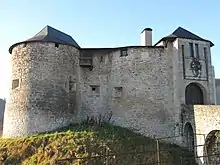
{"type": "Polygon", "coordinates": [[[141,32],[141,46],[152,46],[152,29],[145,28],[141,32]]]}

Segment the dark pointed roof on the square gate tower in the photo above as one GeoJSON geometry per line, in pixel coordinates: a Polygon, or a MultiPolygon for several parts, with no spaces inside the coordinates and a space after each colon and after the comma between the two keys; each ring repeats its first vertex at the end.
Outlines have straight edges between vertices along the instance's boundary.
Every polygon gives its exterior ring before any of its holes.
{"type": "Polygon", "coordinates": [[[192,40],[198,40],[198,41],[205,41],[205,42],[210,42],[210,46],[214,46],[214,44],[206,39],[203,39],[196,34],[193,34],[192,32],[182,28],[178,27],[172,34],[163,37],[160,41],[158,41],[155,45],[157,45],[159,42],[164,41],[164,40],[175,40],[176,38],[185,38],[185,39],[192,39],[192,40]]]}

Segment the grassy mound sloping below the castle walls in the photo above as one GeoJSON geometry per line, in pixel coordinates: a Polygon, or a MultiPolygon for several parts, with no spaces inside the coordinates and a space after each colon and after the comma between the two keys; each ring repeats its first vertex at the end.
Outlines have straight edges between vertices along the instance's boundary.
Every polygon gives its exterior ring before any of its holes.
{"type": "MultiPolygon", "coordinates": [[[[127,129],[104,125],[100,128],[69,126],[57,132],[39,134],[22,139],[0,139],[0,164],[88,164],[101,165],[106,157],[72,159],[108,154],[108,165],[136,165],[156,160],[156,143],[150,138],[135,134],[127,129]],[[132,154],[126,154],[132,152],[132,154]],[[142,152],[142,153],[137,153],[142,152]]],[[[194,162],[181,163],[180,155],[187,155],[177,146],[161,143],[160,157],[163,161],[174,161],[169,165],[194,165],[194,162]]],[[[168,164],[168,163],[167,163],[168,164]]],[[[164,163],[164,165],[166,165],[164,163]]]]}

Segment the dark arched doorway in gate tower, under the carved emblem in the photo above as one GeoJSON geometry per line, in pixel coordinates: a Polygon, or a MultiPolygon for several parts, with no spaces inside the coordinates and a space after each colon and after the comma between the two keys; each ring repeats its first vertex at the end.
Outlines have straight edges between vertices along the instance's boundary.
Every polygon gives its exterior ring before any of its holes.
{"type": "Polygon", "coordinates": [[[204,104],[202,89],[195,83],[187,85],[185,90],[186,105],[204,104]]]}

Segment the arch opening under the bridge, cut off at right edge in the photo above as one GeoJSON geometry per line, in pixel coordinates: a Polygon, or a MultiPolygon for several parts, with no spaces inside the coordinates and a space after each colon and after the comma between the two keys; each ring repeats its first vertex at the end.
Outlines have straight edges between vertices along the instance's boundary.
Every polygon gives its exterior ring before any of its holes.
{"type": "Polygon", "coordinates": [[[220,130],[213,130],[206,137],[204,155],[207,164],[220,164],[220,130]]]}

